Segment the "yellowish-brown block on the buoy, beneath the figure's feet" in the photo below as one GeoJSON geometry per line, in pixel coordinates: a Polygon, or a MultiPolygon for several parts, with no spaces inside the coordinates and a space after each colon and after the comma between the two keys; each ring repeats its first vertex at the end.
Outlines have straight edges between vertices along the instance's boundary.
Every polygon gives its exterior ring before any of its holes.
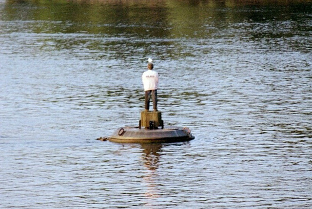
{"type": "Polygon", "coordinates": [[[142,111],[140,126],[145,129],[157,129],[157,127],[163,127],[163,121],[161,120],[160,111],[142,111]]]}

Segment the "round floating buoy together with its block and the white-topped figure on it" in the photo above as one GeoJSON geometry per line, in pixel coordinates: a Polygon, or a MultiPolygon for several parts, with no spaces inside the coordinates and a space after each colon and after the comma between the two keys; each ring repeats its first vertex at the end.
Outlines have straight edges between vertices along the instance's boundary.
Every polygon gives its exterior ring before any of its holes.
{"type": "Polygon", "coordinates": [[[152,76],[144,76],[146,73],[151,73],[153,70],[153,59],[148,58],[148,71],[142,75],[142,81],[145,89],[145,111],[141,112],[141,118],[138,127],[121,127],[118,128],[108,140],[119,143],[168,143],[190,141],[195,138],[191,130],[187,127],[165,127],[164,121],[161,119],[161,112],[157,111],[157,97],[155,96],[158,84],[157,72],[152,72],[152,76]],[[145,88],[147,87],[147,88],[145,88]],[[149,93],[153,93],[153,108],[154,111],[148,111],[149,93]],[[148,98],[148,99],[147,99],[148,98]]]}

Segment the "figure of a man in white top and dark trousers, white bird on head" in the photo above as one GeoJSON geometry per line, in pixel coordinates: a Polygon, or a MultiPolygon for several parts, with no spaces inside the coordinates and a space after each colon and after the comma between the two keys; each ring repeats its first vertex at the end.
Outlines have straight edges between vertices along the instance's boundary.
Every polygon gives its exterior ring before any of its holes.
{"type": "Polygon", "coordinates": [[[150,109],[151,93],[153,96],[153,108],[154,111],[157,111],[158,73],[153,71],[154,65],[152,61],[153,60],[151,58],[148,59],[148,70],[145,71],[142,75],[142,82],[145,91],[145,111],[149,111],[150,109]]]}

